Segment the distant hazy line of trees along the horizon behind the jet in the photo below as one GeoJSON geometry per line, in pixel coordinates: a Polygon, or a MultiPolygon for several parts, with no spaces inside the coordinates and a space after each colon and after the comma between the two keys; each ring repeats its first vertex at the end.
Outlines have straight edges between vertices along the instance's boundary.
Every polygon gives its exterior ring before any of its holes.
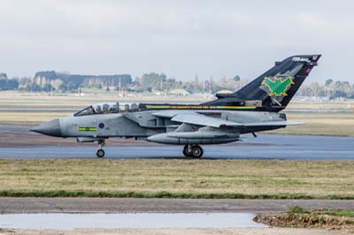
{"type": "MultiPolygon", "coordinates": [[[[37,72],[35,78],[12,78],[8,79],[5,73],[0,73],[0,91],[18,90],[27,92],[60,92],[77,93],[82,88],[102,89],[106,92],[127,91],[127,92],[162,92],[166,93],[173,89],[183,89],[189,94],[211,93],[227,89],[235,91],[246,84],[248,80],[241,80],[239,75],[233,78],[223,77],[214,80],[182,81],[175,78],[168,78],[165,73],[150,72],[142,74],[132,80],[130,75],[70,75],[56,72],[37,72]],[[40,79],[39,79],[40,78],[40,79]]],[[[303,97],[327,97],[354,98],[354,84],[345,80],[326,80],[324,84],[312,82],[300,87],[296,94],[303,97]]]]}

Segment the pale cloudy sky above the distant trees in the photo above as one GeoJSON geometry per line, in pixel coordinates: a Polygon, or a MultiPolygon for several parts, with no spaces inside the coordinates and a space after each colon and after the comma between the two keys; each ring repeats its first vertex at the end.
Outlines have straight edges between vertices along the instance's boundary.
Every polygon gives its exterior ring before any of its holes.
{"type": "Polygon", "coordinates": [[[251,79],[320,53],[311,80],[354,81],[352,1],[0,0],[0,72],[251,79]]]}

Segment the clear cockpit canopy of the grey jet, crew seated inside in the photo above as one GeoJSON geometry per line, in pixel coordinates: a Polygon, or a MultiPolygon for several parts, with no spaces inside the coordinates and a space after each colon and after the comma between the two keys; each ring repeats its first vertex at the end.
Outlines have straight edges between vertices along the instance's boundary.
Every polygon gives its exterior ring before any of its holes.
{"type": "Polygon", "coordinates": [[[78,111],[73,116],[85,116],[94,114],[123,113],[139,110],[139,104],[136,102],[102,102],[90,105],[83,110],[78,111]]]}

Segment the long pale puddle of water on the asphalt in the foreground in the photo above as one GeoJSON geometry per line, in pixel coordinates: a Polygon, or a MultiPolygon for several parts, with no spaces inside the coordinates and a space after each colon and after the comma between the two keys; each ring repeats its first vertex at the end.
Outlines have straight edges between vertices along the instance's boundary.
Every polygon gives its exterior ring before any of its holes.
{"type": "Polygon", "coordinates": [[[73,230],[77,228],[256,228],[252,213],[10,214],[0,228],[73,230]]]}

